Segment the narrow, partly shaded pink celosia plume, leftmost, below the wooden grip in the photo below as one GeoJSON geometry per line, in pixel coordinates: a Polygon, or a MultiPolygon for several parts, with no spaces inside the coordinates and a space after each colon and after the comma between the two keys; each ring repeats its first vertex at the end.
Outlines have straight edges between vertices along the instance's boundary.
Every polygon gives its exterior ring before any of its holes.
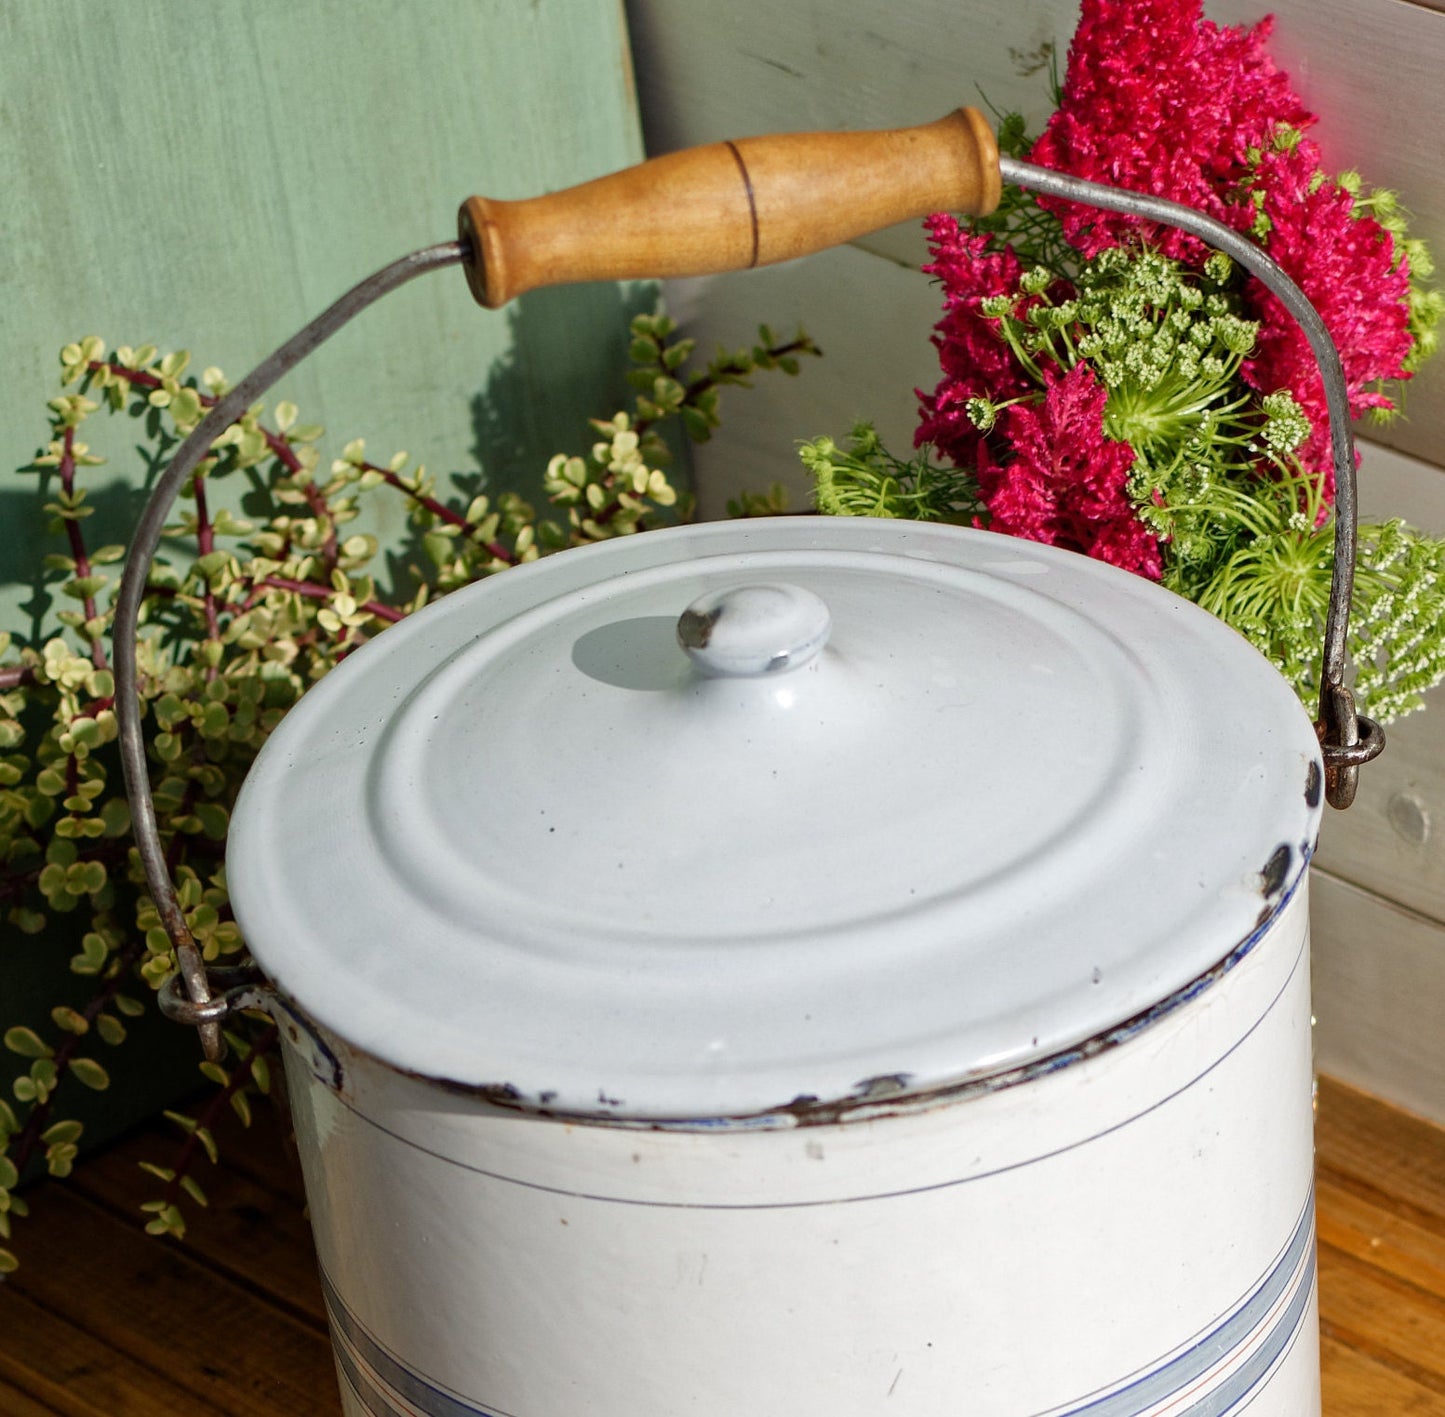
{"type": "Polygon", "coordinates": [[[938,276],[945,292],[944,318],[933,334],[944,378],[931,394],[915,390],[922,413],[915,443],[933,443],[967,468],[978,458],[983,435],[964,404],[974,397],[1001,403],[1033,387],[998,338],[998,321],[978,309],[991,295],[1017,292],[1019,259],[1012,247],[985,250],[988,237],[971,235],[944,212],[929,217],[926,225],[933,260],[923,270],[938,276]]]}

